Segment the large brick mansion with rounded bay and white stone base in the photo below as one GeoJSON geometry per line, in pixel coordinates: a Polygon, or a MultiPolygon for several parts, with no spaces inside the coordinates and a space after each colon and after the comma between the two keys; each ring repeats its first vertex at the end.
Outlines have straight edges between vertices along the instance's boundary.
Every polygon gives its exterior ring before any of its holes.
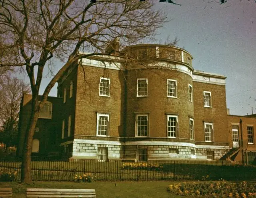
{"type": "Polygon", "coordinates": [[[49,97],[58,111],[54,149],[99,160],[228,158],[230,123],[237,121],[226,113],[226,77],[194,70],[181,48],[144,44],[124,51],[133,59],[82,59],[58,81],[58,97],[49,97]]]}

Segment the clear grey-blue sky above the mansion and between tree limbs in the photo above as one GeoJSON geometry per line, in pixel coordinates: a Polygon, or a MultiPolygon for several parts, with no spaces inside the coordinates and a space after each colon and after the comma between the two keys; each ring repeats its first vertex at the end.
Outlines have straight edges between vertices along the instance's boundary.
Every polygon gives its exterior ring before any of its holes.
{"type": "MultiPolygon", "coordinates": [[[[154,9],[170,20],[156,39],[178,38],[178,47],[192,54],[196,70],[225,75],[227,108],[232,115],[256,113],[256,3],[254,0],[176,0],[182,6],[154,0],[154,9]]],[[[63,63],[55,62],[53,73],[63,63]]],[[[52,74],[46,69],[43,93],[52,74]]],[[[25,80],[28,78],[23,77],[25,80]]],[[[57,85],[50,91],[57,95],[57,85]]]]}

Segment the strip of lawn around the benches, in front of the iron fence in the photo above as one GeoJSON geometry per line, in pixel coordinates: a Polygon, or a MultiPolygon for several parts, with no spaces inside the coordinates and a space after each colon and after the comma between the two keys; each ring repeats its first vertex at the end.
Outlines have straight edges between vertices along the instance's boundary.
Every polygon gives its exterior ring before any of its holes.
{"type": "Polygon", "coordinates": [[[25,198],[26,188],[93,188],[96,190],[97,198],[184,198],[166,191],[172,183],[174,182],[0,182],[0,187],[12,188],[13,198],[25,198]]]}

